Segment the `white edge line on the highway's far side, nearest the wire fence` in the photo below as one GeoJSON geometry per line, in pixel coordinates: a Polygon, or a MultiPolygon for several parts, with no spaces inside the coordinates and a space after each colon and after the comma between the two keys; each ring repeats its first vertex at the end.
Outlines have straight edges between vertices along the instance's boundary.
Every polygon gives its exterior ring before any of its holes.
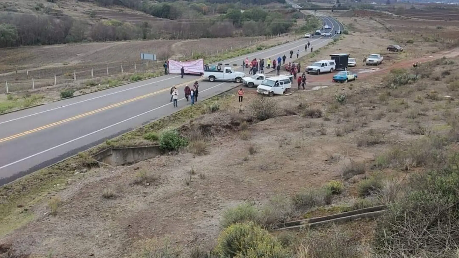
{"type": "MultiPolygon", "coordinates": [[[[328,18],[327,16],[323,16],[324,19],[328,18]]],[[[332,26],[333,26],[333,22],[332,23],[332,26]]],[[[333,27],[332,27],[332,30],[333,30],[333,27]]],[[[335,36],[335,35],[334,35],[335,36]]],[[[333,37],[334,37],[333,36],[333,37]]],[[[333,38],[332,37],[332,38],[333,38]]],[[[314,39],[310,42],[314,42],[316,40],[319,40],[321,38],[318,38],[318,39],[314,39]]],[[[264,50],[264,51],[261,51],[261,52],[255,52],[255,53],[252,53],[251,56],[257,56],[257,55],[261,55],[261,54],[264,54],[266,52],[270,52],[270,51],[273,51],[273,50],[276,50],[276,49],[279,49],[279,48],[283,48],[285,46],[288,46],[288,45],[292,45],[292,44],[297,44],[299,43],[298,41],[302,41],[304,39],[297,39],[293,42],[290,42],[290,43],[287,43],[287,44],[283,44],[283,45],[279,45],[279,46],[275,46],[273,48],[270,48],[270,49],[267,49],[267,50],[264,50]]],[[[326,39],[324,40],[326,41],[326,39]]],[[[297,47],[293,47],[291,49],[288,49],[288,50],[292,50],[292,49],[295,49],[297,47]]],[[[282,52],[279,52],[279,53],[276,53],[274,54],[273,56],[277,56],[281,53],[283,53],[285,50],[283,50],[282,52]]],[[[244,57],[242,58],[238,58],[238,59],[227,59],[227,60],[223,60],[223,61],[220,61],[220,62],[235,62],[235,61],[240,61],[240,60],[243,60],[244,57]],[[230,60],[233,60],[233,61],[230,61],[230,60]]],[[[86,101],[92,101],[92,100],[95,100],[95,99],[99,99],[99,98],[102,98],[102,97],[106,97],[106,96],[110,96],[110,95],[114,95],[114,94],[118,94],[120,92],[124,92],[124,91],[127,91],[127,90],[134,90],[134,89],[137,89],[137,88],[140,88],[140,87],[145,87],[145,86],[148,86],[150,84],[155,84],[155,83],[159,83],[159,82],[163,82],[163,81],[166,81],[166,80],[170,80],[170,79],[174,79],[174,78],[177,78],[179,77],[179,75],[177,76],[174,76],[174,77],[171,77],[171,78],[167,78],[167,79],[162,79],[162,80],[159,80],[159,81],[155,81],[155,82],[151,82],[151,83],[147,83],[147,84],[142,84],[142,85],[139,85],[139,86],[135,86],[135,87],[132,87],[132,88],[128,88],[128,89],[124,89],[124,90],[118,90],[118,91],[115,91],[115,92],[112,92],[112,93],[108,93],[108,94],[105,94],[105,95],[100,95],[100,96],[97,96],[97,97],[93,97],[93,98],[89,98],[89,99],[86,99],[86,100],[83,100],[83,101],[77,101],[77,102],[73,102],[73,103],[70,103],[70,104],[67,104],[67,105],[64,105],[64,106],[60,106],[60,107],[55,107],[55,108],[51,108],[51,109],[47,109],[47,110],[44,110],[44,111],[40,111],[40,112],[36,112],[36,113],[33,113],[33,114],[29,114],[29,115],[26,115],[26,116],[22,116],[22,117],[18,117],[18,118],[13,118],[13,119],[10,119],[10,120],[6,120],[6,121],[3,121],[3,122],[0,122],[0,124],[3,124],[3,123],[9,123],[9,122],[13,122],[13,121],[17,121],[19,119],[23,119],[23,118],[28,118],[28,117],[32,117],[32,116],[36,116],[36,115],[39,115],[39,114],[43,114],[43,113],[46,113],[46,112],[50,112],[50,111],[54,111],[54,110],[57,110],[57,109],[61,109],[61,108],[64,108],[64,107],[70,107],[70,106],[73,106],[73,105],[76,105],[76,104],[80,104],[80,103],[83,103],[83,102],[86,102],[86,101]]]]}

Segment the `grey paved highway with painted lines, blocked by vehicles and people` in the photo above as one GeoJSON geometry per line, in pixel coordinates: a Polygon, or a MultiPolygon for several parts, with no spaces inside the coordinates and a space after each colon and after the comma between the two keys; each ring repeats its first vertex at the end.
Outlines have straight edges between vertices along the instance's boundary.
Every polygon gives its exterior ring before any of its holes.
{"type": "MultiPolygon", "coordinates": [[[[331,31],[343,29],[336,20],[317,15],[332,27],[331,31]]],[[[266,60],[300,50],[301,57],[309,53],[304,51],[308,41],[318,49],[330,40],[300,39],[247,56],[266,60]]],[[[245,58],[239,56],[224,63],[241,64],[245,58]]],[[[286,62],[289,61],[292,59],[287,58],[286,62]]],[[[173,107],[169,102],[170,88],[178,85],[183,97],[185,84],[191,86],[196,79],[200,77],[185,75],[181,79],[177,74],[169,74],[1,115],[0,185],[186,107],[189,103],[183,98],[179,99],[179,108],[173,107]]],[[[229,82],[202,81],[198,102],[234,86],[229,82]]]]}

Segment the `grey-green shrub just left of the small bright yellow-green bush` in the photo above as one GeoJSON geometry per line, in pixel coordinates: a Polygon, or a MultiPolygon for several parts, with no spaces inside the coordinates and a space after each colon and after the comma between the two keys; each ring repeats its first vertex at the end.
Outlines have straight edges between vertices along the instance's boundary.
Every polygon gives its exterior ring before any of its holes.
{"type": "Polygon", "coordinates": [[[328,205],[331,203],[332,194],[326,188],[307,188],[293,196],[293,207],[306,212],[311,208],[328,205]]]}

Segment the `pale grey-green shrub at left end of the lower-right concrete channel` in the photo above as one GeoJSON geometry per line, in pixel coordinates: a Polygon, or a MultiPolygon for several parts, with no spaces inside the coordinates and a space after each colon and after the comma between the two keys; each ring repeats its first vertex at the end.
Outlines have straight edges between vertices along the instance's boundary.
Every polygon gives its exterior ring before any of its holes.
{"type": "Polygon", "coordinates": [[[263,205],[260,211],[260,224],[271,228],[274,224],[287,220],[293,212],[291,200],[285,196],[276,195],[263,205]]]}

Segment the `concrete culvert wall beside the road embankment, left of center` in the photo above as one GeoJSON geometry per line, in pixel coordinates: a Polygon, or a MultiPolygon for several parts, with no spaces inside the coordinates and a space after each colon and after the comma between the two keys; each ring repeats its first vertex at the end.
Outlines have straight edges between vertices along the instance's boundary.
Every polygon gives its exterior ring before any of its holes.
{"type": "Polygon", "coordinates": [[[121,166],[154,158],[161,154],[162,151],[159,148],[159,146],[154,145],[125,148],[108,148],[96,153],[92,157],[98,162],[104,164],[121,166]]]}

